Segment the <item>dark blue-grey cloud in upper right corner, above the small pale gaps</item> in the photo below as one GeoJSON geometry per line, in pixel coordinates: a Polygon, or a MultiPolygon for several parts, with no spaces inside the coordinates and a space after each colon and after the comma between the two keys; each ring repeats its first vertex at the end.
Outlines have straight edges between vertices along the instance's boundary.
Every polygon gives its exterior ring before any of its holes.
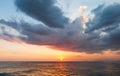
{"type": "Polygon", "coordinates": [[[109,6],[100,5],[92,11],[95,15],[94,19],[87,23],[89,29],[87,32],[98,30],[101,28],[118,26],[120,23],[120,4],[114,3],[109,6]]]}

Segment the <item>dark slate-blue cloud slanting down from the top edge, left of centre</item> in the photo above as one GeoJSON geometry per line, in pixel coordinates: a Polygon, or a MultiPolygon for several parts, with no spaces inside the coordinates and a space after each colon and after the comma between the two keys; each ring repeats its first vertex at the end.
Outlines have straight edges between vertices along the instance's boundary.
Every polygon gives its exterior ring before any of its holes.
{"type": "Polygon", "coordinates": [[[64,27],[68,18],[55,5],[56,0],[16,0],[19,10],[50,27],[64,27]]]}

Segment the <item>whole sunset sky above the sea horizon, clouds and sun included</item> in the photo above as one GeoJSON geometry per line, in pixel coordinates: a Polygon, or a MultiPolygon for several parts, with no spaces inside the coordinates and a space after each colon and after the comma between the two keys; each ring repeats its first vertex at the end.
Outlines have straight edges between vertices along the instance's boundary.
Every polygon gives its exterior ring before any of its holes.
{"type": "Polygon", "coordinates": [[[120,60],[120,0],[1,0],[0,61],[120,60]]]}

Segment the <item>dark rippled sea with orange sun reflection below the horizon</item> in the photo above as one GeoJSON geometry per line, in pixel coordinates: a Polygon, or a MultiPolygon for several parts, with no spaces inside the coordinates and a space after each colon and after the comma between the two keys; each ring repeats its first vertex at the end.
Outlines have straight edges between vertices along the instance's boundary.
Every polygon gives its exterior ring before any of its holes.
{"type": "Polygon", "coordinates": [[[120,62],[0,62],[0,76],[120,76],[120,62]]]}

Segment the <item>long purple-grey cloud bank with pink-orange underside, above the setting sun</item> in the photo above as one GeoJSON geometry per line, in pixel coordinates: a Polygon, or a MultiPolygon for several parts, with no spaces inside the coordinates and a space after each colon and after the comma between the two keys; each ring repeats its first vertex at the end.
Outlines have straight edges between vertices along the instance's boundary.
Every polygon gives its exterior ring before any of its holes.
{"type": "MultiPolygon", "coordinates": [[[[92,38],[97,36],[95,36],[95,34],[84,34],[84,28],[82,26],[82,21],[84,20],[82,19],[82,17],[77,18],[73,23],[66,25],[64,29],[48,28],[42,24],[29,24],[23,20],[20,22],[4,21],[4,23],[0,24],[4,25],[4,27],[10,27],[17,30],[17,32],[20,33],[20,36],[17,37],[13,36],[14,33],[9,36],[3,34],[4,36],[7,36],[7,39],[19,39],[29,44],[46,45],[49,48],[64,51],[97,52],[93,47],[95,44],[92,43],[92,38]]],[[[0,36],[1,38],[6,39],[2,35],[0,36]]]]}

